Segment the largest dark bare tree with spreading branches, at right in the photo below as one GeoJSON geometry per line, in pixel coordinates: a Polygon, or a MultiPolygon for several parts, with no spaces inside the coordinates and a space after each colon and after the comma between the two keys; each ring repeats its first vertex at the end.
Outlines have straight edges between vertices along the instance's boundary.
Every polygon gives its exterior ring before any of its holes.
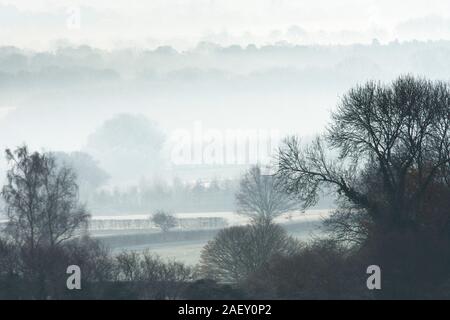
{"type": "Polygon", "coordinates": [[[331,187],[375,226],[408,228],[419,225],[430,186],[448,185],[449,165],[450,88],[405,76],[350,90],[309,146],[287,139],[277,176],[305,207],[331,187]]]}

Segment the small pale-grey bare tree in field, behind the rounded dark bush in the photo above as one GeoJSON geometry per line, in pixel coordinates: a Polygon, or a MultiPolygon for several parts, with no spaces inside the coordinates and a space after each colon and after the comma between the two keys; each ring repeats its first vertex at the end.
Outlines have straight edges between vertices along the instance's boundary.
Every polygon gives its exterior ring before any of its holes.
{"type": "Polygon", "coordinates": [[[253,222],[271,222],[277,216],[298,208],[274,175],[265,175],[254,166],[244,175],[236,194],[238,213],[253,222]]]}

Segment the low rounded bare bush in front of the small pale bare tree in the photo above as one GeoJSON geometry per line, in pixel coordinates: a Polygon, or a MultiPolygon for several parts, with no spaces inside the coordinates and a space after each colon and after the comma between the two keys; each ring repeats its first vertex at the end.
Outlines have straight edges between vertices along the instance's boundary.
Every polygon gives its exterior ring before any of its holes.
{"type": "Polygon", "coordinates": [[[221,230],[201,253],[201,272],[209,278],[237,283],[262,268],[275,255],[290,255],[299,243],[279,225],[255,224],[221,230]]]}

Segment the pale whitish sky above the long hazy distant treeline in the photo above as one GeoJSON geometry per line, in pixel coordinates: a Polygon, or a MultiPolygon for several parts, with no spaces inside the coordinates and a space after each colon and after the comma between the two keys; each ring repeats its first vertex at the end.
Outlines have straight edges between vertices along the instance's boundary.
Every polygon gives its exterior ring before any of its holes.
{"type": "Polygon", "coordinates": [[[448,0],[0,0],[0,45],[101,48],[450,38],[448,0]],[[78,16],[79,13],[79,16],[78,16]]]}

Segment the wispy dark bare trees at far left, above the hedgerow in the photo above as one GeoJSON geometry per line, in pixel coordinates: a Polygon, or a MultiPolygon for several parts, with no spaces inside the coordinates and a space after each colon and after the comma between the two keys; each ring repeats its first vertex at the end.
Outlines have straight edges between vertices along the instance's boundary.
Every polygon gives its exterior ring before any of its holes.
{"type": "Polygon", "coordinates": [[[27,147],[6,150],[6,158],[11,164],[2,190],[6,231],[18,243],[31,250],[58,245],[87,222],[71,169],[58,167],[51,155],[29,153],[27,147]]]}

